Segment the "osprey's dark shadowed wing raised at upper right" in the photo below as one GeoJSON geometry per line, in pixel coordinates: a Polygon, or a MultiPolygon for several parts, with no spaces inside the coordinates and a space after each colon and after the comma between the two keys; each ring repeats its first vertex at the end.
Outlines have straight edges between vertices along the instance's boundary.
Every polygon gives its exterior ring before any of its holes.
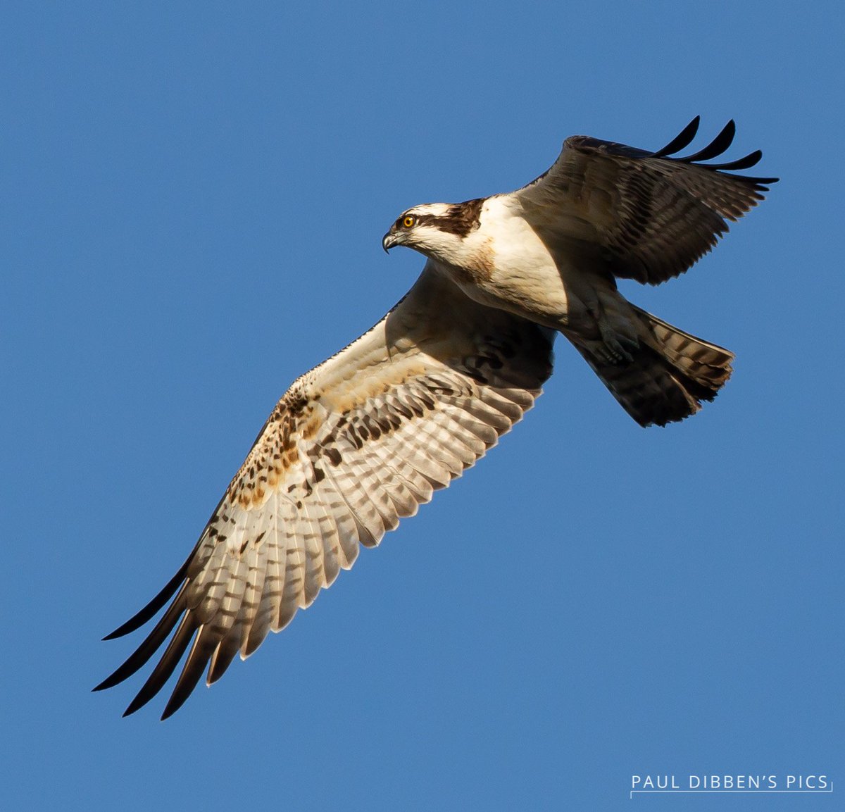
{"type": "Polygon", "coordinates": [[[683,158],[698,130],[695,117],[669,144],[646,152],[575,135],[554,165],[511,193],[544,240],[564,241],[615,276],[649,282],[684,273],[713,248],[777,177],[744,177],[760,150],[736,161],[702,164],[728,149],[733,121],[702,150],[683,158]]]}

